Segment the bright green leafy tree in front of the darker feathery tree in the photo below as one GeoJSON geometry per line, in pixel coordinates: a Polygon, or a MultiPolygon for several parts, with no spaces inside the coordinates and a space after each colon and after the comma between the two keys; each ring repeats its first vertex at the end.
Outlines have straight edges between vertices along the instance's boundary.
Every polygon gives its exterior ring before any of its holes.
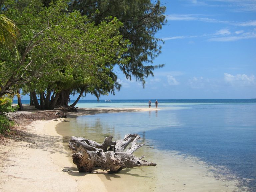
{"type": "MultiPolygon", "coordinates": [[[[119,34],[122,23],[109,17],[95,25],[87,16],[67,13],[69,1],[56,1],[43,7],[39,1],[6,1],[5,13],[17,23],[21,38],[14,49],[0,49],[0,95],[26,83],[40,94],[41,107],[53,108],[65,84],[90,79],[88,91],[115,86],[111,63],[126,63],[121,55],[128,41],[119,34]],[[19,57],[15,56],[18,55],[19,57]],[[106,65],[109,63],[109,65],[106,65]]],[[[88,82],[88,81],[87,81],[88,82]]]]}

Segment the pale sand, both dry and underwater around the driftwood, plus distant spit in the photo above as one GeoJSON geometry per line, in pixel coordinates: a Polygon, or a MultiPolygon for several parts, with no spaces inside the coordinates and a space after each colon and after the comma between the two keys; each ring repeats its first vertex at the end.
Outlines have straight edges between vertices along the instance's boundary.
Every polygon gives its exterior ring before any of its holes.
{"type": "MultiPolygon", "coordinates": [[[[158,109],[79,109],[75,116],[145,110],[158,109]]],[[[217,178],[204,162],[176,153],[152,154],[154,158],[150,160],[157,163],[156,167],[124,169],[116,174],[102,170],[79,173],[63,145],[63,137],[55,130],[59,122],[34,121],[26,127],[25,137],[1,145],[0,191],[240,191],[236,180],[217,178]],[[160,158],[163,160],[158,163],[160,158]],[[62,172],[64,168],[73,172],[62,172]],[[162,174],[163,171],[167,173],[162,174]]]]}

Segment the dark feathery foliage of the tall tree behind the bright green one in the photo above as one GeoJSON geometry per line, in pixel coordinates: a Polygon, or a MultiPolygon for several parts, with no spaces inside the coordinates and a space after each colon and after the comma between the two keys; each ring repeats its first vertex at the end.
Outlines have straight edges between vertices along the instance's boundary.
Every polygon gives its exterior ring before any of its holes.
{"type": "Polygon", "coordinates": [[[159,41],[155,34],[166,23],[165,7],[159,0],[73,0],[69,9],[79,10],[89,16],[96,25],[108,16],[114,16],[123,23],[119,29],[130,45],[122,58],[129,62],[117,63],[127,79],[132,76],[145,83],[144,77],[153,75],[153,70],[164,65],[151,65],[161,53],[159,41]],[[148,65],[149,64],[149,65],[148,65]]]}

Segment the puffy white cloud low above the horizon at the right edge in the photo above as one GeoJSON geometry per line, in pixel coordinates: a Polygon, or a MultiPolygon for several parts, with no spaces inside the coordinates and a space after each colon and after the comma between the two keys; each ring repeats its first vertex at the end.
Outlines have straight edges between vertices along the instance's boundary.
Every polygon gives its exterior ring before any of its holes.
{"type": "Polygon", "coordinates": [[[243,86],[251,86],[256,85],[255,76],[247,76],[246,74],[237,74],[231,75],[228,73],[224,73],[225,82],[231,84],[232,86],[243,87],[243,86]]]}

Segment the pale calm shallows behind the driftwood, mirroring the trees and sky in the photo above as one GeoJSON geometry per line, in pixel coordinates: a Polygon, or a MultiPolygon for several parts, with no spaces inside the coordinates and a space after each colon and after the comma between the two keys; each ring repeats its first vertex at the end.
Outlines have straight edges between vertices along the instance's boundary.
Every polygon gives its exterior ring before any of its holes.
{"type": "Polygon", "coordinates": [[[146,133],[149,130],[179,127],[182,125],[173,111],[126,112],[86,115],[67,119],[70,122],[57,125],[57,132],[63,136],[81,136],[88,139],[101,140],[109,135],[113,139],[121,139],[128,133],[146,133]],[[158,115],[161,113],[161,115],[158,115]],[[160,119],[159,119],[160,118],[160,119]],[[164,119],[164,121],[162,120],[164,119]],[[92,137],[92,138],[89,138],[92,137]]]}

